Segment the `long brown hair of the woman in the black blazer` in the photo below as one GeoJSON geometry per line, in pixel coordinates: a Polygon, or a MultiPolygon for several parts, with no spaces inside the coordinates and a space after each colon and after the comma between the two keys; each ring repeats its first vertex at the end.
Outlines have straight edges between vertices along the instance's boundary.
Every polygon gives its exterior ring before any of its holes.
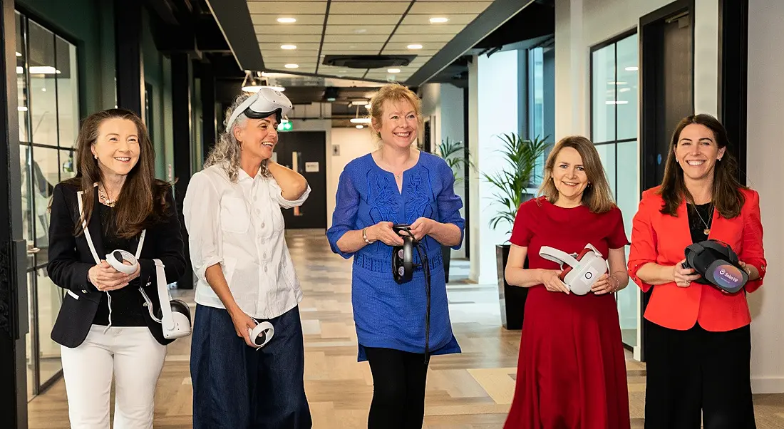
{"type": "MultiPolygon", "coordinates": [[[[116,228],[115,233],[118,237],[132,238],[140,234],[149,224],[158,221],[165,213],[169,205],[166,193],[171,189],[170,184],[155,179],[155,149],[150,134],[147,133],[147,127],[135,113],[125,109],[108,109],[85,118],[76,140],[77,173],[74,178],[65,180],[64,183],[83,191],[84,213],[81,220],[89,224],[95,206],[93,187],[94,184],[103,182],[103,172],[90,148],[98,139],[101,123],[114,118],[133,122],[139,134],[139,161],[128,173],[125,184],[122,185],[114,205],[112,225],[116,228]]],[[[82,221],[76,225],[74,234],[82,234],[82,221]]]]}

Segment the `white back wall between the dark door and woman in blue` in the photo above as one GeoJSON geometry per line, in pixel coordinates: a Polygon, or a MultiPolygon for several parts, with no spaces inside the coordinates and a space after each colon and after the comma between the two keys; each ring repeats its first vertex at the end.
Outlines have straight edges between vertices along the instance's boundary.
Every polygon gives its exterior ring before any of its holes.
{"type": "Polygon", "coordinates": [[[335,211],[335,194],[338,190],[340,173],[354,158],[378,148],[370,129],[333,128],[327,139],[327,227],[332,227],[332,212],[335,211]],[[339,146],[340,155],[332,155],[332,147],[339,146]]]}

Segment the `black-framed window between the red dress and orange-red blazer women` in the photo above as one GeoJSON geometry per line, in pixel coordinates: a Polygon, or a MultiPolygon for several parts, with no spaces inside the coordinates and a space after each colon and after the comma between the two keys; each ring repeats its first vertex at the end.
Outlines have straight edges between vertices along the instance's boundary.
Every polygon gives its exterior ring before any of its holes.
{"type": "MultiPolygon", "coordinates": [[[[591,140],[596,145],[615,202],[623,213],[626,236],[637,212],[637,35],[604,42],[591,49],[591,140]]],[[[629,247],[626,247],[628,257],[629,247]]],[[[630,285],[618,293],[623,342],[637,345],[639,291],[630,285]]]]}

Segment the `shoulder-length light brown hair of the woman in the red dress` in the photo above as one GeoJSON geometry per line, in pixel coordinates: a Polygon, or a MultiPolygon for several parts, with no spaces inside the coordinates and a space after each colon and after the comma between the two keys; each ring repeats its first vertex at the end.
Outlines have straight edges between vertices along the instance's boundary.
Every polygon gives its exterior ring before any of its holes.
{"type": "Polygon", "coordinates": [[[604,174],[604,167],[601,165],[599,152],[593,143],[583,136],[564,137],[555,144],[545,162],[539,195],[544,195],[547,201],[553,204],[557,201],[559,193],[555,187],[553,169],[555,158],[564,147],[572,147],[580,154],[580,158],[583,158],[583,169],[588,177],[588,186],[583,191],[583,205],[586,205],[593,213],[606,213],[615,208],[615,201],[612,198],[607,176],[604,174]]]}

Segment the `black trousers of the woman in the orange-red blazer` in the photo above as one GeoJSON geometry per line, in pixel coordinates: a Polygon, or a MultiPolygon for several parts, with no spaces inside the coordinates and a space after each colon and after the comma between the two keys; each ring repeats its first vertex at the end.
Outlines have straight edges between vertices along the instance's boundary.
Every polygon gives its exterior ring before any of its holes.
{"type": "Polygon", "coordinates": [[[645,427],[754,429],[751,330],[686,331],[647,322],[645,427]]]}

